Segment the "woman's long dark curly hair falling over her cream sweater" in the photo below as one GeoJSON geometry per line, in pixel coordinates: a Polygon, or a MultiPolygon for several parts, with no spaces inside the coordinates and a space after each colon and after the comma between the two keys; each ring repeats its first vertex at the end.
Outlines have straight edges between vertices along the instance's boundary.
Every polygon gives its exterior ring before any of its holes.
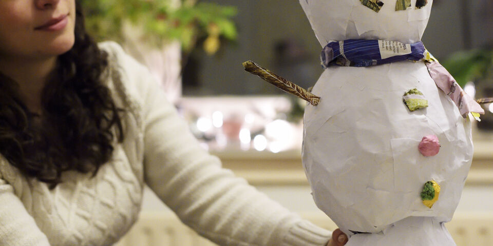
{"type": "Polygon", "coordinates": [[[15,81],[0,73],[0,154],[50,188],[64,171],[96,175],[111,158],[113,142],[124,137],[123,110],[104,84],[108,54],[87,34],[75,2],[75,43],[59,56],[43,89],[42,117],[28,110],[15,81]]]}

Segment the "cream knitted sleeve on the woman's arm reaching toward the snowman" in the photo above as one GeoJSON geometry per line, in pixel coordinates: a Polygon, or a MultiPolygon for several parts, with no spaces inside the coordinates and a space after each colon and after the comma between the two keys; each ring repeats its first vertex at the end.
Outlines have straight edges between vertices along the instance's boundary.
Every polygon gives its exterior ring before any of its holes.
{"type": "Polygon", "coordinates": [[[144,101],[144,178],[187,226],[220,245],[326,245],[330,232],[258,192],[208,154],[142,65],[123,69],[144,101]]]}

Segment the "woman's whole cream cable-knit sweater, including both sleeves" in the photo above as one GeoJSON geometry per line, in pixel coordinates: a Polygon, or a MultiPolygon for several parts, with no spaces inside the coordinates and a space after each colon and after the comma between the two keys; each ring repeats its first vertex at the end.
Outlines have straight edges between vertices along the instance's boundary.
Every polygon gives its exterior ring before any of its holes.
{"type": "Polygon", "coordinates": [[[326,230],[257,192],[203,151],[149,72],[115,43],[108,86],[125,140],[94,178],[67,172],[49,190],[0,156],[0,245],[111,245],[138,217],[144,182],[180,219],[221,245],[325,245],[326,230]]]}

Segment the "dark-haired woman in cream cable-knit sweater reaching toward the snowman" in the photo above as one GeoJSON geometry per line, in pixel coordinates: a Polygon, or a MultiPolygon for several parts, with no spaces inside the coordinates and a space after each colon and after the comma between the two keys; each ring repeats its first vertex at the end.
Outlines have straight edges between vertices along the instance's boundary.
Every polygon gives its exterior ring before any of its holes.
{"type": "Polygon", "coordinates": [[[91,40],[75,0],[0,1],[0,13],[0,244],[115,243],[144,182],[218,244],[327,244],[201,150],[148,71],[91,40]]]}

